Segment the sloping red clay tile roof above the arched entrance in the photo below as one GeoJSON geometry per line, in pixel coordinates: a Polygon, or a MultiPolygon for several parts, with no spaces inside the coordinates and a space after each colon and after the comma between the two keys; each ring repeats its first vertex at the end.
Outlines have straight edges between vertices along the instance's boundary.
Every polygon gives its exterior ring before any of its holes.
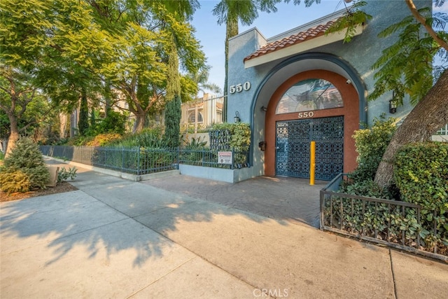
{"type": "Polygon", "coordinates": [[[251,55],[248,55],[244,58],[244,62],[247,60],[251,60],[255,57],[260,57],[262,55],[275,52],[276,50],[280,50],[282,48],[290,47],[293,45],[297,45],[297,43],[303,43],[304,41],[309,41],[310,39],[314,39],[318,36],[322,36],[325,34],[328,28],[333,25],[336,20],[331,20],[326,22],[325,24],[317,25],[316,27],[312,27],[307,29],[307,31],[299,32],[297,34],[293,34],[279,41],[273,41],[271,43],[267,43],[265,46],[262,46],[260,49],[256,50],[251,55]]]}

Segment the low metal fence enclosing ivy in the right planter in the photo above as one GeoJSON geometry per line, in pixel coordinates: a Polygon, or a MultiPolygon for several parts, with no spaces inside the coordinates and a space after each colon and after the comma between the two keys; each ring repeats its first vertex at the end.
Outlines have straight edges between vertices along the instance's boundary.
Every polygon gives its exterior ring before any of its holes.
{"type": "Polygon", "coordinates": [[[439,233],[435,211],[431,228],[425,228],[417,204],[336,192],[347,179],[346,174],[339,174],[321,190],[321,230],[448,261],[448,253],[439,253],[442,244],[435,242],[430,249],[423,246],[423,237],[439,233]]]}

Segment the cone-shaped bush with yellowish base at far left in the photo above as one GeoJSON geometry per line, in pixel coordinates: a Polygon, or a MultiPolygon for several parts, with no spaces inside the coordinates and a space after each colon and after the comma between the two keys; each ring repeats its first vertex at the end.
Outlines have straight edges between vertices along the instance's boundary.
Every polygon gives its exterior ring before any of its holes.
{"type": "Polygon", "coordinates": [[[49,179],[50,173],[37,144],[29,138],[19,139],[4,160],[4,167],[0,172],[1,190],[13,193],[45,188],[49,179]]]}

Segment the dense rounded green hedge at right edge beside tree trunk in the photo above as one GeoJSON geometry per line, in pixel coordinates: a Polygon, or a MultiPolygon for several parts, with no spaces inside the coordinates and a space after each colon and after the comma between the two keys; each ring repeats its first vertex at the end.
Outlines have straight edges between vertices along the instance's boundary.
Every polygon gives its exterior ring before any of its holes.
{"type": "Polygon", "coordinates": [[[427,244],[448,246],[448,144],[403,146],[395,157],[393,177],[401,199],[421,205],[423,227],[430,232],[427,244]]]}

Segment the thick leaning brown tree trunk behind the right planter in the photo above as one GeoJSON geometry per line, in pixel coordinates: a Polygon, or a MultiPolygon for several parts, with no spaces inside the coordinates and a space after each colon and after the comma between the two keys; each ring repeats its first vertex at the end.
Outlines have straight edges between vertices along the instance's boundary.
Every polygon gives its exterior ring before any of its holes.
{"type": "Polygon", "coordinates": [[[444,71],[433,88],[398,127],[379,163],[374,181],[381,187],[389,186],[393,179],[393,158],[400,147],[409,142],[428,140],[447,123],[448,71],[444,71]]]}

